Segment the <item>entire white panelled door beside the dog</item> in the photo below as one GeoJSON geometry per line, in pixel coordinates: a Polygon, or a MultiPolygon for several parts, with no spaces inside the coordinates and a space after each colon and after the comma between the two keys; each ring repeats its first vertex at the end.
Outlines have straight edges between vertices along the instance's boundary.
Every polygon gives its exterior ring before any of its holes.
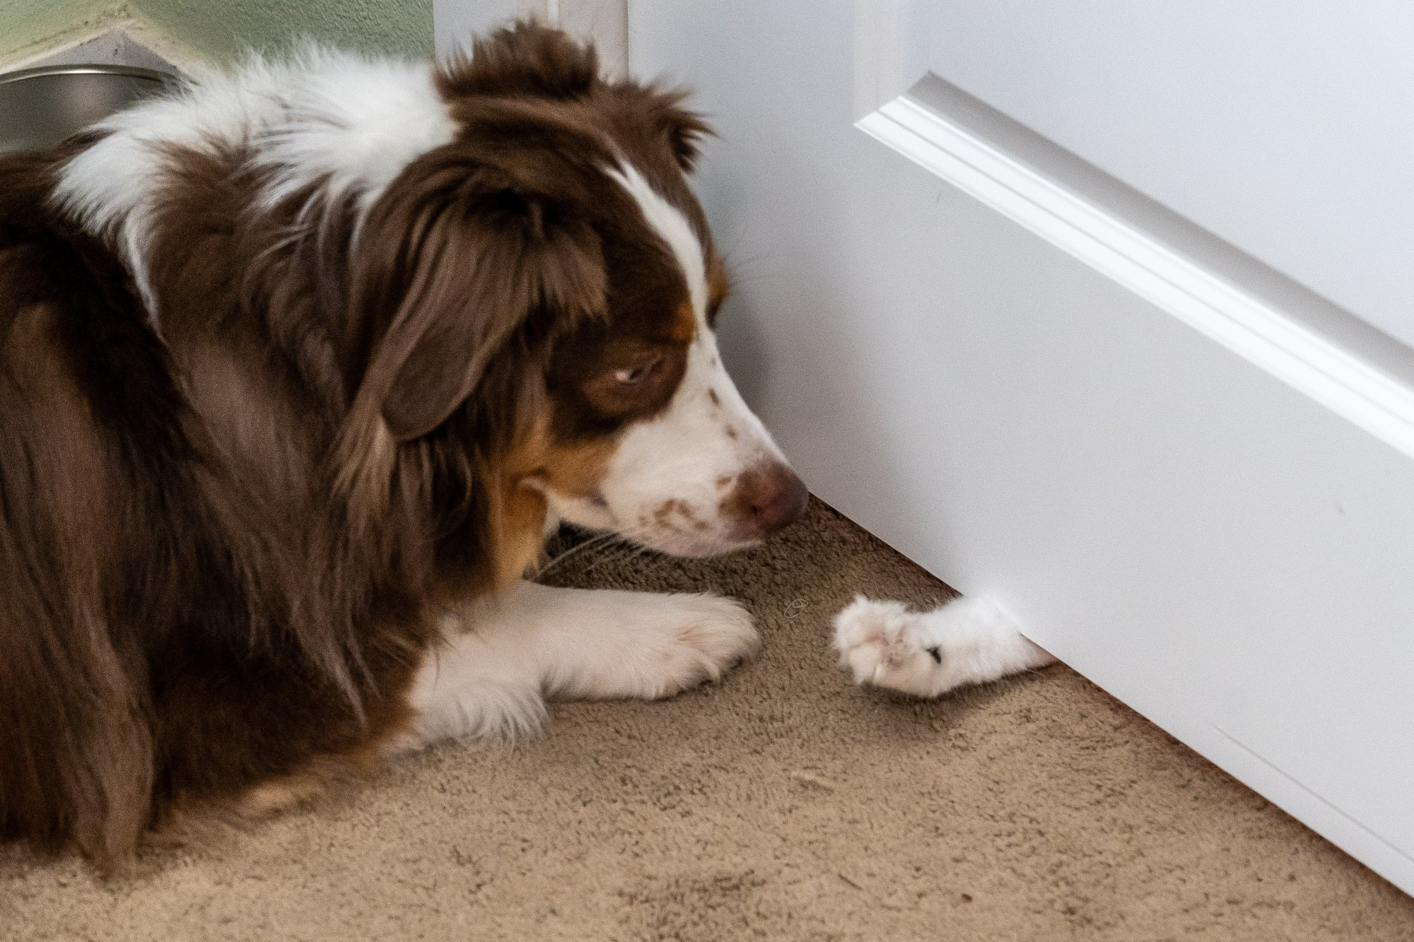
{"type": "Polygon", "coordinates": [[[721,134],[812,489],[1414,891],[1401,10],[631,0],[628,52],[721,134]]]}

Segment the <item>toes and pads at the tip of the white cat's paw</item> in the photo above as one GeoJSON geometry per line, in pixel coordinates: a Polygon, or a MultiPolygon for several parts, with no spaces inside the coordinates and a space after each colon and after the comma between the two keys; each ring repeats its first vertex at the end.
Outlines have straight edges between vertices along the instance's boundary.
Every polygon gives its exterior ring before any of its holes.
{"type": "Polygon", "coordinates": [[[919,629],[919,615],[896,601],[857,597],[834,617],[840,666],[855,683],[922,693],[942,652],[919,629]]]}

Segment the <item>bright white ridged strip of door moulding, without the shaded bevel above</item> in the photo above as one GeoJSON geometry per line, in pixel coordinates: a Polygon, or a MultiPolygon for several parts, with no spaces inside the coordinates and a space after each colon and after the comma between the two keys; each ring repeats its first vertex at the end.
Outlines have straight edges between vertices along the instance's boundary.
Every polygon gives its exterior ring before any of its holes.
{"type": "MultiPolygon", "coordinates": [[[[868,76],[860,76],[868,85],[868,76]]],[[[1414,457],[1414,388],[960,122],[901,95],[857,126],[1243,359],[1414,457]]]]}

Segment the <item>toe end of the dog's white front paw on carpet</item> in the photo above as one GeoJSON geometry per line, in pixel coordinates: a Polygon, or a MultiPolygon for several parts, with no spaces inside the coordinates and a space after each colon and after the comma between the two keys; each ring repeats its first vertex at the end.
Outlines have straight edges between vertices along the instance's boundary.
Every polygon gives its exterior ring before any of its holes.
{"type": "Polygon", "coordinates": [[[638,696],[658,699],[717,680],[761,649],[751,612],[721,595],[667,595],[662,620],[645,632],[635,673],[638,696]]]}

